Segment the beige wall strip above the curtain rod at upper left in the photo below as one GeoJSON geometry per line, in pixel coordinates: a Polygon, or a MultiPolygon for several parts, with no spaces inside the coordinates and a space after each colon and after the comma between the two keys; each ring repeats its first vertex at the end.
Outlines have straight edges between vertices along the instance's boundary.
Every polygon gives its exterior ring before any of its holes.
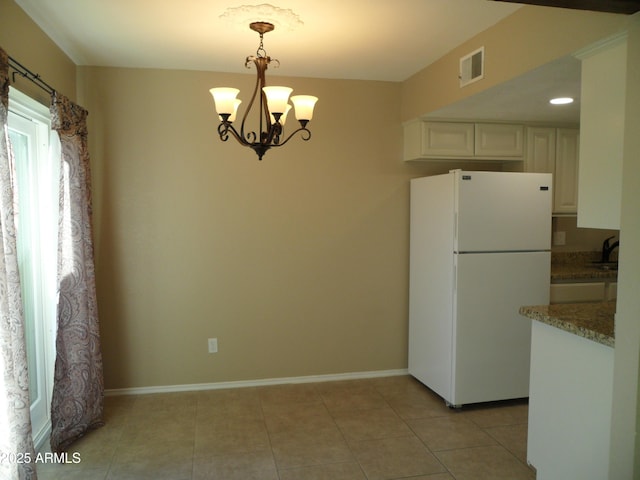
{"type": "MultiPolygon", "coordinates": [[[[0,47],[49,85],[76,99],[76,66],[13,0],[0,0],[0,47]]],[[[16,77],[14,87],[45,105],[49,96],[31,82],[16,77]]]]}

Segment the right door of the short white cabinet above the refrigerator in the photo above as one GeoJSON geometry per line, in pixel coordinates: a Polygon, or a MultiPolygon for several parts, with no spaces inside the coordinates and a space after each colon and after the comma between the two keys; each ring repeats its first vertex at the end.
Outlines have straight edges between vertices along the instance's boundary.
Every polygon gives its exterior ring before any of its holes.
{"type": "Polygon", "coordinates": [[[519,157],[524,154],[524,127],[500,123],[476,123],[475,154],[478,157],[519,157]]]}

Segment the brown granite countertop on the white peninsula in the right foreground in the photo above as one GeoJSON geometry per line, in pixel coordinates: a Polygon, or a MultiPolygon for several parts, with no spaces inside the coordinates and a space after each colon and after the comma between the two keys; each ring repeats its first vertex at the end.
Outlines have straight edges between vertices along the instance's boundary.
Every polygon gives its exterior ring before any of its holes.
{"type": "Polygon", "coordinates": [[[609,347],[615,344],[615,312],[615,301],[520,307],[525,317],[609,347]]]}

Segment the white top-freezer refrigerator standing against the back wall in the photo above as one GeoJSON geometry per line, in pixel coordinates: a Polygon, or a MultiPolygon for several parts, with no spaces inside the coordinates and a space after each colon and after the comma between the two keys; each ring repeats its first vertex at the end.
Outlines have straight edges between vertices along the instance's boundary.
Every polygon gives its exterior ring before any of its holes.
{"type": "Polygon", "coordinates": [[[552,176],[411,180],[409,373],[447,405],[528,397],[531,320],[549,303],[552,176]]]}

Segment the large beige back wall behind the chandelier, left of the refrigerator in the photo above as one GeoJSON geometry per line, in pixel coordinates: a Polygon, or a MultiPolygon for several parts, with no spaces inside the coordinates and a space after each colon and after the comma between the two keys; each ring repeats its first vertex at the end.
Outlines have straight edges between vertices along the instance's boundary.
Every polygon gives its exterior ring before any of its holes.
{"type": "Polygon", "coordinates": [[[259,162],[208,92],[253,75],[80,71],[107,388],[406,368],[399,84],[272,79],[320,101],[259,162]]]}

